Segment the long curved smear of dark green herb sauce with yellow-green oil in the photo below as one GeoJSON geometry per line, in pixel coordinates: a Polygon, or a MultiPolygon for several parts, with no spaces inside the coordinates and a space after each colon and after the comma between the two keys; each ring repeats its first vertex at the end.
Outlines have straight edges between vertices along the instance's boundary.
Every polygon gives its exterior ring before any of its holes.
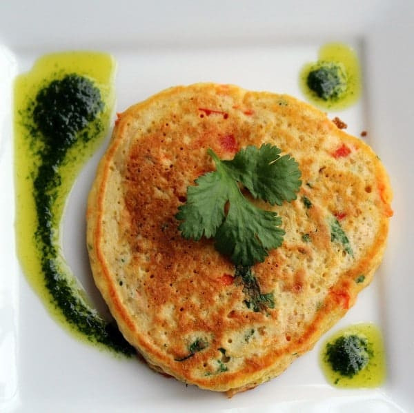
{"type": "Polygon", "coordinates": [[[106,54],[52,54],[17,79],[16,228],[23,270],[50,312],[77,336],[131,355],[135,350],[115,323],[103,320],[88,302],[59,242],[72,183],[108,129],[113,66],[106,54]]]}

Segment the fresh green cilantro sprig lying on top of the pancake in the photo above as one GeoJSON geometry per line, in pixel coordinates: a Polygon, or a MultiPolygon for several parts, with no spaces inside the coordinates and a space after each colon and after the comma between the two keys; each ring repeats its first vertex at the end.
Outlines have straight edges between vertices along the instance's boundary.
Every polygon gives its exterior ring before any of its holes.
{"type": "Polygon", "coordinates": [[[239,184],[254,199],[270,205],[282,205],[296,199],[301,173],[290,155],[280,156],[276,146],[259,149],[248,146],[231,161],[221,161],[211,149],[208,154],[216,165],[188,186],[187,201],[179,206],[176,218],[185,239],[199,241],[202,236],[215,239],[215,248],[230,256],[236,265],[262,262],[269,250],[282,245],[285,234],[276,212],[258,208],[248,201],[239,184]],[[228,208],[226,208],[228,205],[228,208]]]}

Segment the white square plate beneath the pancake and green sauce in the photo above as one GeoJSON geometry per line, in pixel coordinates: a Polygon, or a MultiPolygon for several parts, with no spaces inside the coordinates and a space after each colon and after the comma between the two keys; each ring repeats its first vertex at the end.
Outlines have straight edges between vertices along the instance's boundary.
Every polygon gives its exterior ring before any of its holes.
{"type": "MultiPolygon", "coordinates": [[[[402,1],[59,1],[0,3],[0,410],[20,412],[400,412],[414,409],[413,112],[414,3],[402,1]],[[170,85],[235,83],[304,99],[302,65],[326,41],[357,50],[363,97],[329,114],[368,131],[395,192],[391,232],[375,281],[334,330],[373,321],[386,340],[388,379],[375,390],[337,390],[319,346],[277,379],[226,399],[80,343],[30,290],[14,252],[12,80],[52,51],[103,50],[118,62],[116,110],[170,85]]],[[[63,248],[90,294],[86,196],[99,157],[79,175],[63,223],[63,248]]],[[[96,298],[97,305],[99,297],[96,298]]],[[[329,333],[330,334],[330,333],[329,333]]]]}

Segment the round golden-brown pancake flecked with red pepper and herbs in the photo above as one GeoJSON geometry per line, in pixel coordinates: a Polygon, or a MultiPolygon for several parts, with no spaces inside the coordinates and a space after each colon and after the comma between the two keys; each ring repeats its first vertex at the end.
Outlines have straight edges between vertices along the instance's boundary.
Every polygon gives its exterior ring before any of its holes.
{"type": "Polygon", "coordinates": [[[90,264],[150,366],[231,396],[278,376],[352,307],[382,259],[391,197],[373,150],[311,105],[233,85],[170,88],[119,114],[88,200],[90,264]],[[250,199],[286,235],[263,263],[235,268],[213,240],[184,239],[175,214],[215,170],[208,148],[233,159],[264,143],[295,158],[302,186],[282,206],[250,199]],[[249,305],[246,277],[272,302],[249,305]]]}

